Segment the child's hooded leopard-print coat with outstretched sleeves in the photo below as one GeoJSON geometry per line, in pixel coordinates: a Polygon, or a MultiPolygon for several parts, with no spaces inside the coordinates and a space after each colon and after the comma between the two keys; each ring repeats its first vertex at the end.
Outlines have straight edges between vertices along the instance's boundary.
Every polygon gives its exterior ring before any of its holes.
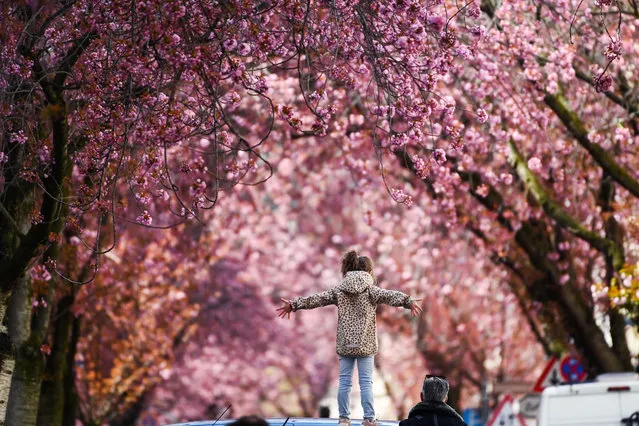
{"type": "Polygon", "coordinates": [[[377,353],[377,305],[410,309],[410,296],[373,285],[368,272],[347,272],[337,287],[291,301],[293,311],[337,305],[337,354],[347,357],[373,356],[377,353]]]}

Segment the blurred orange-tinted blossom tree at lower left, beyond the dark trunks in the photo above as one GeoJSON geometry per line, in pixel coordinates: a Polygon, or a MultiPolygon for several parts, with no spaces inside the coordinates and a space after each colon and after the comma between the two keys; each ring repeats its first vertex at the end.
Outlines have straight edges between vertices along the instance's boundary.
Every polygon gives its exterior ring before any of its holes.
{"type": "Polygon", "coordinates": [[[111,252],[115,265],[82,287],[74,304],[83,320],[74,360],[78,417],[87,425],[117,419],[161,380],[199,313],[188,297],[195,265],[167,255],[180,239],[136,237],[147,243],[121,238],[111,252]]]}

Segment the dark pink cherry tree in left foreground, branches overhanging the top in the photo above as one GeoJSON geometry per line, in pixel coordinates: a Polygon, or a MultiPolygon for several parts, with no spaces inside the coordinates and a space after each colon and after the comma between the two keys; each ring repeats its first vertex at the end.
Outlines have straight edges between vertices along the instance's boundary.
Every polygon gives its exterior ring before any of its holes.
{"type": "Polygon", "coordinates": [[[99,236],[117,222],[198,220],[221,192],[267,179],[261,151],[276,119],[323,135],[337,112],[326,93],[340,87],[382,116],[401,102],[410,121],[455,56],[437,3],[31,0],[1,10],[0,312],[16,286],[31,291],[34,266],[51,287],[32,330],[16,301],[22,320],[9,329],[22,329],[3,339],[10,423],[35,421],[25,413],[37,411],[52,285],[73,280],[57,267],[65,227],[96,227],[81,237],[94,260],[76,284],[89,283],[117,241],[99,236]],[[280,75],[296,77],[311,121],[269,96],[280,75]]]}

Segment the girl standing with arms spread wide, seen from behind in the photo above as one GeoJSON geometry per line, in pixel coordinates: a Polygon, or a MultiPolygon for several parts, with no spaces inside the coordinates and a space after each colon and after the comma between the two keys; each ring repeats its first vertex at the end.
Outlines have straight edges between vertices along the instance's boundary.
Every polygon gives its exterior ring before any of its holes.
{"type": "Polygon", "coordinates": [[[359,387],[364,409],[364,426],[376,426],[373,408],[373,357],[377,353],[377,305],[403,306],[419,315],[421,299],[411,299],[401,291],[384,290],[374,285],[373,261],[351,250],[342,258],[342,280],[337,287],[293,300],[282,299],[281,318],[290,318],[299,309],[337,305],[337,354],[339,355],[339,426],[351,426],[350,393],[353,368],[357,363],[359,387]]]}

